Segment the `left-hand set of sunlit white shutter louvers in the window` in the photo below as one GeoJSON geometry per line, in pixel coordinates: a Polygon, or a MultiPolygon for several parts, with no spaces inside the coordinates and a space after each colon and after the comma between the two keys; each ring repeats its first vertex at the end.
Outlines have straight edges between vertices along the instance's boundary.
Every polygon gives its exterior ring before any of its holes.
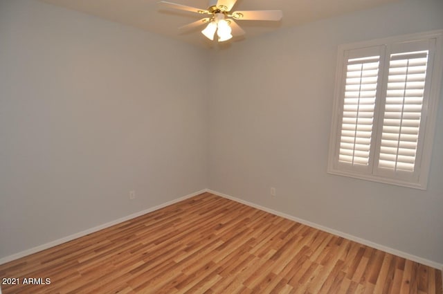
{"type": "Polygon", "coordinates": [[[347,61],[343,120],[338,160],[369,165],[379,56],[347,61]]]}

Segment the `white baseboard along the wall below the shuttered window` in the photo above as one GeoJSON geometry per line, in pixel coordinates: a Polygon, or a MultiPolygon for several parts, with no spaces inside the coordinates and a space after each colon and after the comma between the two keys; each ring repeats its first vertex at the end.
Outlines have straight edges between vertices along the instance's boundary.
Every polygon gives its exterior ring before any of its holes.
{"type": "MultiPolygon", "coordinates": [[[[406,259],[418,262],[420,264],[424,264],[425,266],[431,266],[432,268],[436,268],[438,270],[443,268],[443,264],[440,264],[438,262],[435,262],[435,261],[432,261],[432,260],[429,260],[429,259],[425,259],[425,258],[422,258],[422,257],[418,257],[418,256],[415,256],[415,255],[411,255],[409,253],[402,252],[402,251],[397,250],[397,249],[389,248],[387,246],[383,246],[381,244],[377,244],[377,243],[374,243],[372,241],[361,239],[359,237],[355,237],[353,235],[347,234],[345,232],[340,232],[340,231],[334,230],[332,228],[327,228],[325,226],[319,225],[318,223],[312,223],[311,221],[306,221],[305,219],[299,219],[298,217],[293,217],[292,215],[285,214],[285,213],[279,212],[277,210],[272,210],[271,208],[266,208],[266,207],[264,207],[262,205],[257,205],[255,203],[252,203],[252,202],[249,202],[249,201],[244,201],[242,199],[238,199],[236,197],[233,197],[233,196],[230,196],[230,195],[227,195],[227,194],[223,194],[223,193],[219,193],[219,192],[216,192],[216,191],[213,191],[213,190],[206,190],[206,192],[210,192],[210,193],[215,194],[217,196],[221,196],[221,197],[224,197],[226,199],[230,199],[230,200],[242,203],[244,205],[248,205],[248,206],[251,206],[253,208],[257,208],[259,210],[263,210],[265,212],[269,212],[271,214],[275,214],[278,217],[284,217],[285,219],[289,219],[291,221],[296,221],[298,223],[302,223],[303,225],[309,226],[311,228],[316,228],[316,229],[322,230],[324,232],[329,232],[332,235],[343,237],[345,239],[348,239],[348,240],[351,240],[351,241],[355,241],[355,242],[363,244],[365,246],[369,246],[369,247],[372,247],[372,248],[375,248],[375,249],[378,249],[378,250],[382,250],[384,252],[388,252],[388,253],[390,253],[392,255],[397,255],[399,257],[403,257],[403,258],[406,258],[406,259]]],[[[443,273],[442,273],[442,275],[443,275],[443,273]]]]}

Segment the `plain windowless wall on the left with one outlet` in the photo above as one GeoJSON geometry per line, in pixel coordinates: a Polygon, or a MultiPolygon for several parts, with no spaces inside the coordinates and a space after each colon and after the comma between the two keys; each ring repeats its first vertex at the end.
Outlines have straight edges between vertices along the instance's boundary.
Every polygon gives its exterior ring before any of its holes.
{"type": "Polygon", "coordinates": [[[207,55],[0,1],[0,257],[204,189],[207,55]]]}

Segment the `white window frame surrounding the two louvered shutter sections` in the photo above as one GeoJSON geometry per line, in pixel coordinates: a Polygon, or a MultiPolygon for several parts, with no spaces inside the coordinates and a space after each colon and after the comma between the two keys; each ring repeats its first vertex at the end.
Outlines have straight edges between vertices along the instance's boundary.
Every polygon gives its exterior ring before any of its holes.
{"type": "MultiPolygon", "coordinates": [[[[343,44],[338,46],[336,75],[335,75],[335,91],[332,111],[332,123],[329,138],[329,154],[327,163],[327,172],[339,176],[347,176],[359,178],[367,181],[376,181],[379,183],[387,183],[391,185],[399,185],[403,187],[412,187],[419,190],[426,190],[428,183],[428,174],[431,168],[431,153],[433,149],[433,139],[435,135],[435,123],[437,120],[438,103],[441,98],[442,75],[443,75],[443,30],[433,30],[425,33],[416,33],[411,35],[402,35],[397,37],[388,37],[383,39],[374,39],[366,42],[358,42],[352,44],[343,44]],[[421,40],[435,39],[435,47],[428,54],[428,71],[426,71],[426,84],[428,95],[424,97],[422,118],[419,127],[419,138],[417,153],[415,154],[415,172],[414,176],[405,176],[401,178],[392,173],[393,176],[379,172],[377,160],[380,156],[379,142],[383,129],[383,114],[386,105],[386,88],[388,85],[388,71],[390,67],[390,55],[395,54],[391,51],[392,47],[408,46],[407,43],[419,42],[421,40]],[[379,57],[379,76],[377,82],[377,95],[374,106],[374,118],[372,122],[372,135],[370,143],[371,161],[368,167],[361,168],[345,163],[340,163],[338,154],[340,152],[341,131],[343,120],[343,104],[346,84],[347,55],[352,50],[374,50],[371,48],[381,48],[379,57]],[[431,75],[428,79],[428,75],[431,75]],[[429,84],[430,83],[430,84],[429,84]],[[348,167],[348,168],[347,168],[348,167]]],[[[409,51],[410,52],[410,51],[409,51]]],[[[369,55],[368,55],[369,56],[369,55]]],[[[362,56],[361,56],[362,57],[362,56]]]]}

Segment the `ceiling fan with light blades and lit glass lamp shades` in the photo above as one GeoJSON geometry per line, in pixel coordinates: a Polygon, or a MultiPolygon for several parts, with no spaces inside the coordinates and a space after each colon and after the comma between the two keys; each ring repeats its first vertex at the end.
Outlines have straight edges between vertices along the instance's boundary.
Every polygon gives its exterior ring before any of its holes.
{"type": "Polygon", "coordinates": [[[203,19],[194,21],[186,26],[181,26],[179,29],[190,30],[207,24],[201,33],[212,41],[217,31],[219,42],[224,42],[232,38],[233,35],[239,36],[245,34],[244,30],[239,27],[235,20],[279,21],[283,17],[281,10],[241,10],[230,12],[236,1],[237,0],[209,0],[209,7],[207,9],[199,9],[167,1],[160,1],[158,3],[159,6],[163,8],[172,8],[205,15],[206,17],[203,19]]]}

